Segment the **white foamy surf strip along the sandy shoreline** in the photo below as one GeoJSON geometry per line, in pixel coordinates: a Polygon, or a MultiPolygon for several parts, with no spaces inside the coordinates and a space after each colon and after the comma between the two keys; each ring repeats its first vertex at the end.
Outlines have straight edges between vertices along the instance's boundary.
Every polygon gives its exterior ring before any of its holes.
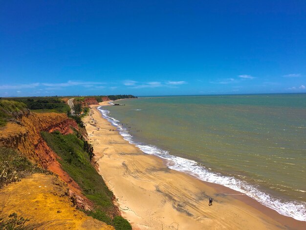
{"type": "Polygon", "coordinates": [[[306,202],[301,201],[282,201],[282,199],[272,196],[266,192],[261,191],[255,185],[248,184],[247,182],[238,180],[234,177],[224,176],[220,173],[211,171],[203,165],[198,164],[196,161],[188,160],[181,157],[171,155],[168,151],[160,149],[153,145],[144,143],[137,143],[132,139],[129,131],[121,126],[120,121],[110,117],[109,111],[98,107],[102,116],[106,118],[112,125],[116,126],[120,135],[131,144],[136,145],[141,151],[146,154],[153,154],[162,159],[167,160],[167,166],[176,171],[188,173],[199,180],[221,184],[236,191],[242,192],[249,197],[260,202],[266,207],[270,207],[282,215],[290,216],[296,220],[306,221],[306,202]]]}

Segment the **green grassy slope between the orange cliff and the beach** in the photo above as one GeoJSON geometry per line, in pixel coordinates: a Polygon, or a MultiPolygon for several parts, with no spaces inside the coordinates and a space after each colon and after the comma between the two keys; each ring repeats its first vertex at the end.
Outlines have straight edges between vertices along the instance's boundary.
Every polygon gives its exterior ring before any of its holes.
{"type": "Polygon", "coordinates": [[[116,207],[112,203],[113,193],[91,165],[87,152],[83,150],[84,141],[75,134],[62,135],[57,131],[42,132],[42,137],[48,146],[61,157],[59,162],[63,169],[80,185],[83,194],[93,202],[95,210],[86,213],[114,226],[116,230],[131,230],[130,223],[124,218],[112,218],[117,215],[116,207]]]}

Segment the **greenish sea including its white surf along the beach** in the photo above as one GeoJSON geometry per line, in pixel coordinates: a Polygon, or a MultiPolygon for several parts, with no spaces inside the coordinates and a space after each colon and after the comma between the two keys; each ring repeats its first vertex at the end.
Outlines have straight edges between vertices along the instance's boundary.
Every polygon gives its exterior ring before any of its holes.
{"type": "Polygon", "coordinates": [[[144,152],[306,221],[306,94],[141,97],[120,103],[125,106],[100,109],[144,152]]]}

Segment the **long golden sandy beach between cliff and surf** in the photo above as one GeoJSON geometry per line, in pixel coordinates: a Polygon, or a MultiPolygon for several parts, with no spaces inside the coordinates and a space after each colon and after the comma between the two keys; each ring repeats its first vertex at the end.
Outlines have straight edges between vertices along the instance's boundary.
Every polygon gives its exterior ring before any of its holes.
{"type": "Polygon", "coordinates": [[[240,192],[169,169],[162,159],[124,140],[97,107],[91,106],[83,119],[88,138],[99,173],[134,230],[306,229],[306,222],[240,192]]]}

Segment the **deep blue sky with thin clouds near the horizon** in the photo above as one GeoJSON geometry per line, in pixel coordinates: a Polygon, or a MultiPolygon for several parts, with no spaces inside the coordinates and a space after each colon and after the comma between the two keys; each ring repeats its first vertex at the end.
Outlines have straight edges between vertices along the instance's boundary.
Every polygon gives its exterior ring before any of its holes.
{"type": "Polygon", "coordinates": [[[0,0],[0,96],[306,92],[305,0],[0,0]]]}

